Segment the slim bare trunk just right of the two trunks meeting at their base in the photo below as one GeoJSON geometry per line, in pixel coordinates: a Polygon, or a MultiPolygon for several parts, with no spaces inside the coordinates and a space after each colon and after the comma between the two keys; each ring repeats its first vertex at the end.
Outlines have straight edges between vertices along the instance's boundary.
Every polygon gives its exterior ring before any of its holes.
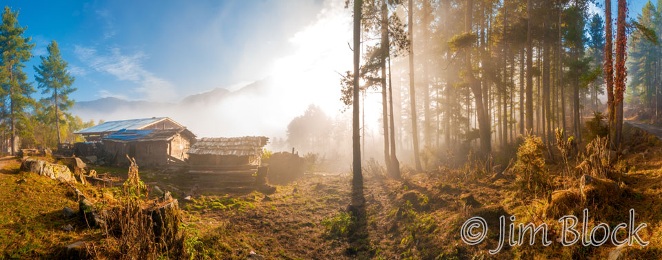
{"type": "Polygon", "coordinates": [[[412,110],[412,139],[414,142],[414,165],[418,172],[423,171],[421,167],[421,159],[419,158],[419,130],[417,127],[416,118],[416,93],[414,85],[414,0],[409,0],[409,39],[411,41],[409,46],[409,92],[412,110]]]}

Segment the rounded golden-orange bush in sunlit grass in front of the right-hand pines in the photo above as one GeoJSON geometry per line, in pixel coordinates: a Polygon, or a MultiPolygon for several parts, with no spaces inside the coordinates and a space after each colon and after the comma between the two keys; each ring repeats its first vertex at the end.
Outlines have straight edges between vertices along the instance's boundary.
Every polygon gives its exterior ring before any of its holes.
{"type": "Polygon", "coordinates": [[[517,161],[513,170],[523,192],[543,192],[550,186],[543,157],[544,150],[543,141],[534,136],[525,137],[524,142],[517,148],[517,161]]]}

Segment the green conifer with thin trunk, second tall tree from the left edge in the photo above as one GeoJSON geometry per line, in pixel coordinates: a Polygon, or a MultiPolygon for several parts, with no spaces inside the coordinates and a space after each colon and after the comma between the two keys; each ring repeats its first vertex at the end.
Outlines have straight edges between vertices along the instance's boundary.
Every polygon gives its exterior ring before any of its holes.
{"type": "Polygon", "coordinates": [[[39,83],[38,87],[41,88],[41,94],[51,94],[51,108],[54,110],[53,121],[55,122],[57,143],[61,143],[60,123],[63,120],[59,112],[66,113],[74,105],[74,101],[69,99],[69,94],[76,91],[76,88],[71,87],[75,79],[67,71],[68,63],[62,59],[57,42],[52,41],[47,50],[48,57],[41,56],[41,64],[39,64],[39,67],[34,67],[37,72],[34,78],[39,83]]]}

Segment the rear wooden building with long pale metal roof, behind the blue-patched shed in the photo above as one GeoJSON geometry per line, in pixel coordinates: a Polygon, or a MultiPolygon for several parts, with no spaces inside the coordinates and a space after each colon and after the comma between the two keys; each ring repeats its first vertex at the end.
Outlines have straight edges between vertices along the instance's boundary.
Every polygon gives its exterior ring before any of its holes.
{"type": "Polygon", "coordinates": [[[150,130],[150,129],[181,129],[184,128],[181,124],[173,121],[168,117],[152,117],[145,119],[130,119],[119,121],[108,121],[100,123],[97,126],[86,128],[74,134],[81,134],[85,137],[86,141],[99,141],[119,130],[150,130]]]}

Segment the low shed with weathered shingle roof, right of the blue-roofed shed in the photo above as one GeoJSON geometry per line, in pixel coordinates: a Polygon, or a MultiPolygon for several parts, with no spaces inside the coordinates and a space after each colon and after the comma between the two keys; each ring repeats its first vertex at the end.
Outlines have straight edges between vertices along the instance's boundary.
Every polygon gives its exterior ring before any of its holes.
{"type": "Polygon", "coordinates": [[[188,150],[189,161],[197,166],[258,166],[268,137],[202,138],[188,150]]]}

